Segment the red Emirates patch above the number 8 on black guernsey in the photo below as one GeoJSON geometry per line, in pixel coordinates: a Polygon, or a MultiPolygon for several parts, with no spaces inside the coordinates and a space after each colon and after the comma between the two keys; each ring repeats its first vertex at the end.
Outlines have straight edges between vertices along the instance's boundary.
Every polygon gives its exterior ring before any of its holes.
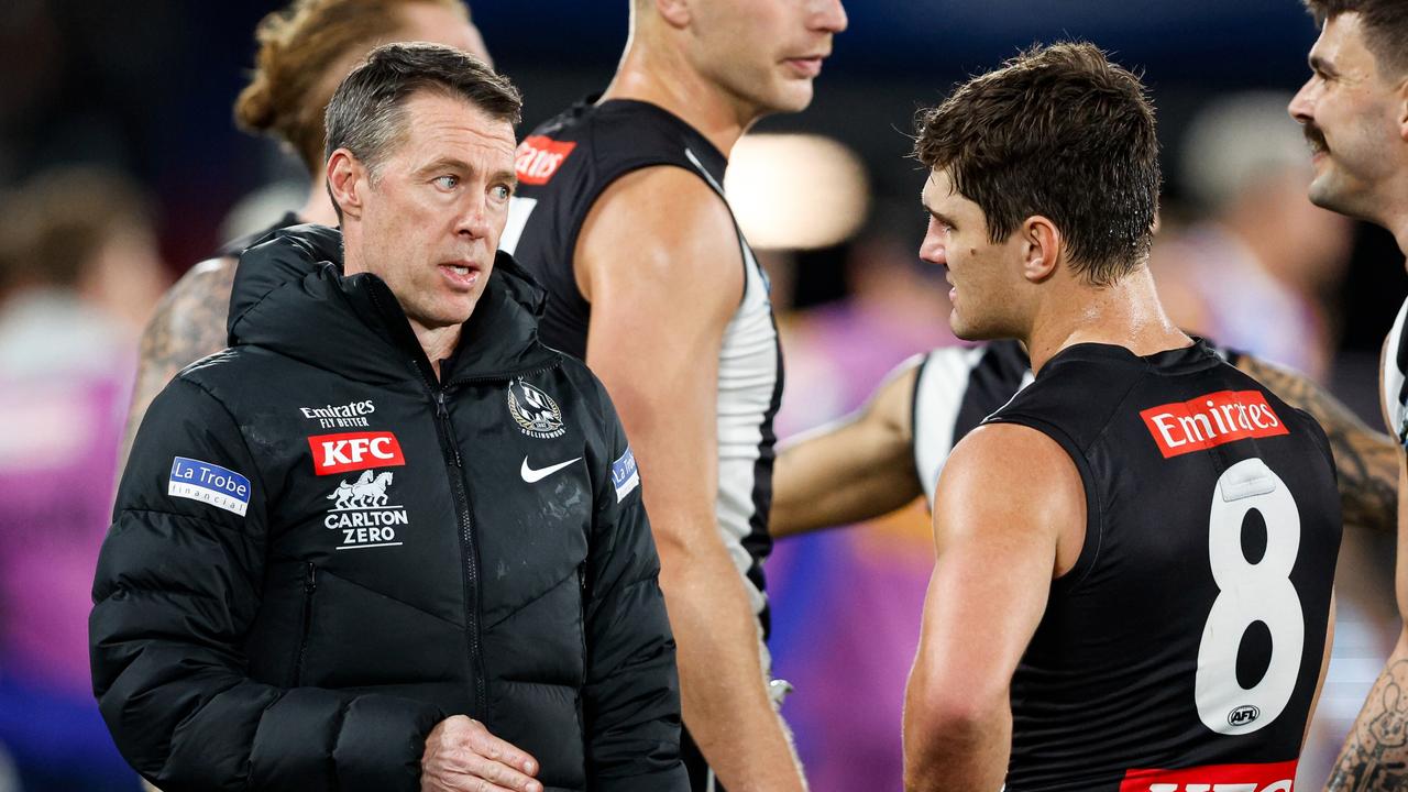
{"type": "Polygon", "coordinates": [[[1249,437],[1290,434],[1260,390],[1218,390],[1140,410],[1163,458],[1249,437]]]}

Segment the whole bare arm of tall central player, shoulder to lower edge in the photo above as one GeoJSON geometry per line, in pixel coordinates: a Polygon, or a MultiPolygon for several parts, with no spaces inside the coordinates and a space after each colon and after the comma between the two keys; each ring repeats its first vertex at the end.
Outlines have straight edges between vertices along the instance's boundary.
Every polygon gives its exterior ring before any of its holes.
{"type": "Polygon", "coordinates": [[[645,483],[684,724],[728,789],[801,791],[743,576],[715,521],[718,355],[743,293],[732,218],[697,176],[638,171],[587,216],[576,272],[591,302],[587,362],[645,483]]]}

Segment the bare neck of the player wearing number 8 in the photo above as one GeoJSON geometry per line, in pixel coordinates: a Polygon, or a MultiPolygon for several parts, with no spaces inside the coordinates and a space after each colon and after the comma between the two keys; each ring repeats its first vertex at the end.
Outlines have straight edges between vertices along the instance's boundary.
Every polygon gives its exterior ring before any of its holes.
{"type": "Polygon", "coordinates": [[[1136,355],[1188,345],[1188,337],[1163,313],[1148,266],[1102,289],[1067,282],[1038,309],[1022,341],[1033,372],[1074,344],[1112,344],[1136,355]]]}

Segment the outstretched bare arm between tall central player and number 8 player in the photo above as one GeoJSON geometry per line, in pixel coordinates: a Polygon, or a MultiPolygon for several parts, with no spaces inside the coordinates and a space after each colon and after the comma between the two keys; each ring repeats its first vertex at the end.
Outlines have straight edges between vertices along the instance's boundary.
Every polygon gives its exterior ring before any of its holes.
{"type": "Polygon", "coordinates": [[[865,407],[783,447],[767,523],[774,537],[872,520],[924,495],[910,426],[918,369],[907,364],[865,407]]]}

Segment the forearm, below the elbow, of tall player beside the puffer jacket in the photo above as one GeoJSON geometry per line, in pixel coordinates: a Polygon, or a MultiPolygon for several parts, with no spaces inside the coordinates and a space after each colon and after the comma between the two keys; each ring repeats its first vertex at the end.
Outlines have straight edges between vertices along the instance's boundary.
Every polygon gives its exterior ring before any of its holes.
{"type": "Polygon", "coordinates": [[[805,788],[767,698],[758,620],[722,544],[662,543],[660,583],[674,630],[684,726],[735,792],[805,788]]]}

